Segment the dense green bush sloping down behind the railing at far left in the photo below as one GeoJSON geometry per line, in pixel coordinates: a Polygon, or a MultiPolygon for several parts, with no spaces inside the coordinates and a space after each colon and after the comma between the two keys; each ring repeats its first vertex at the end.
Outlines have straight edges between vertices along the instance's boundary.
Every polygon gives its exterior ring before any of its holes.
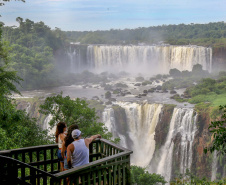
{"type": "Polygon", "coordinates": [[[0,150],[50,143],[43,131],[23,110],[5,97],[0,97],[0,150]]]}

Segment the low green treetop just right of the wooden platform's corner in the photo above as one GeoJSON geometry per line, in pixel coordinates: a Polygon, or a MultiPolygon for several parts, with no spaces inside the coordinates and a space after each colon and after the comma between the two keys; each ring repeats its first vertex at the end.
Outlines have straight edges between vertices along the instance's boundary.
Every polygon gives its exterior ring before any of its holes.
{"type": "Polygon", "coordinates": [[[164,177],[159,174],[150,174],[145,168],[139,166],[131,166],[131,180],[132,184],[138,185],[154,185],[165,184],[164,177]]]}

